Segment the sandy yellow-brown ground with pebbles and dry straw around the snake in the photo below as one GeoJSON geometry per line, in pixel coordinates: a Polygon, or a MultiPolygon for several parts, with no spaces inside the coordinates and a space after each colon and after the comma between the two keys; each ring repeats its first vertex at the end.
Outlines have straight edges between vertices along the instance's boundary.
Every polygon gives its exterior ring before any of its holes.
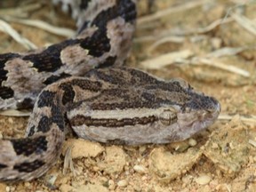
{"type": "MultiPolygon", "coordinates": [[[[48,3],[8,2],[0,3],[0,17],[22,15],[74,28],[48,3]],[[6,13],[4,6],[11,10],[6,13]]],[[[219,120],[169,145],[110,146],[68,137],[60,160],[44,177],[0,183],[0,191],[256,191],[255,11],[250,1],[158,0],[148,10],[141,0],[127,65],[164,79],[184,78],[220,100],[219,120]]],[[[9,23],[37,46],[65,39],[9,23]]],[[[0,52],[26,51],[0,34],[0,52]]],[[[27,117],[0,116],[0,135],[22,137],[27,123],[27,117]]]]}

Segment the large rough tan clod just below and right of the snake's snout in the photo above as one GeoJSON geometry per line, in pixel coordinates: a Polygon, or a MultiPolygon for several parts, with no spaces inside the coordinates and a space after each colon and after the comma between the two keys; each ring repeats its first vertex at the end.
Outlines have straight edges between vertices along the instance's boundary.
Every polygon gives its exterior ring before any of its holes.
{"type": "Polygon", "coordinates": [[[248,164],[250,156],[248,140],[250,136],[246,129],[247,126],[234,116],[223,127],[225,132],[217,130],[212,132],[211,140],[204,145],[204,156],[216,164],[217,168],[225,175],[235,176],[248,164]],[[232,148],[229,146],[230,143],[232,143],[232,148]]]}

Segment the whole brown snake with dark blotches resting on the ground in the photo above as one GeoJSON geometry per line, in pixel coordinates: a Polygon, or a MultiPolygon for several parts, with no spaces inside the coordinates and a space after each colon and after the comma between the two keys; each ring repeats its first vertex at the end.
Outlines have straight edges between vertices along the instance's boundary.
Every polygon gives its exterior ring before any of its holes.
{"type": "Polygon", "coordinates": [[[26,137],[0,140],[0,181],[32,180],[55,164],[72,127],[87,140],[138,145],[186,140],[212,124],[220,103],[180,79],[124,67],[135,0],[53,0],[77,35],[0,55],[0,108],[33,108],[26,137]]]}

